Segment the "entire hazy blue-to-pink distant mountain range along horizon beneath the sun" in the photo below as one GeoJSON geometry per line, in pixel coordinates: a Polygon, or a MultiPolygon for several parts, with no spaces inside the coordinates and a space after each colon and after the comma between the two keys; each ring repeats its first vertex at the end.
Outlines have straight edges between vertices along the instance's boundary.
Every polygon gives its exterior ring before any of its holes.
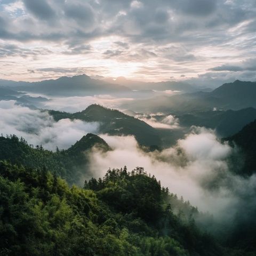
{"type": "Polygon", "coordinates": [[[196,87],[182,82],[166,81],[149,83],[131,81],[124,77],[118,77],[117,79],[93,79],[85,74],[73,77],[63,76],[58,79],[49,79],[41,82],[15,82],[0,79],[0,87],[51,96],[69,97],[94,94],[122,94],[145,97],[154,95],[157,91],[172,91],[174,94],[198,91],[196,87]]]}

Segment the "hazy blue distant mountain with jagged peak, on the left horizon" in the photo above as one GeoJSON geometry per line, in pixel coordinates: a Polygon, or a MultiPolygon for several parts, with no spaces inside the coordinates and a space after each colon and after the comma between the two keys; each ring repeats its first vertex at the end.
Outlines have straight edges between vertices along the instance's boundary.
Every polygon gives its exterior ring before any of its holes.
{"type": "Polygon", "coordinates": [[[0,81],[1,85],[11,85],[18,91],[43,93],[46,95],[81,96],[106,93],[127,93],[131,90],[122,85],[110,84],[90,76],[78,75],[73,77],[63,76],[58,79],[44,80],[41,82],[14,82],[0,81]]]}

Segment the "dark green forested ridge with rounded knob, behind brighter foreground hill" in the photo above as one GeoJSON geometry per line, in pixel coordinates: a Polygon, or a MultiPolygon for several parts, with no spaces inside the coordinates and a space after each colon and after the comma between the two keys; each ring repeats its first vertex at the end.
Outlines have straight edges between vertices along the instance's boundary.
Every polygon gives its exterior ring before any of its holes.
{"type": "Polygon", "coordinates": [[[81,176],[84,177],[84,174],[88,172],[86,152],[93,147],[103,151],[110,150],[103,139],[91,133],[86,134],[69,149],[59,150],[57,148],[56,152],[45,150],[39,145],[28,145],[25,139],[19,139],[15,135],[7,138],[2,136],[0,137],[0,161],[7,160],[13,164],[35,169],[45,167],[72,184],[77,183],[81,176]]]}

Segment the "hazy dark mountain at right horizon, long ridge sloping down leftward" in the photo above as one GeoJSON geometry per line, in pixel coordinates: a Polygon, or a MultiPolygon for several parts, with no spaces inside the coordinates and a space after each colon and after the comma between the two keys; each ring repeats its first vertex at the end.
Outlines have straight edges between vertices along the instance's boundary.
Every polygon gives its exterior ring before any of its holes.
{"type": "Polygon", "coordinates": [[[223,84],[212,92],[194,92],[173,96],[158,96],[146,100],[133,100],[122,107],[147,113],[163,111],[173,114],[191,114],[196,111],[209,111],[213,108],[239,110],[256,108],[256,82],[223,84]]]}

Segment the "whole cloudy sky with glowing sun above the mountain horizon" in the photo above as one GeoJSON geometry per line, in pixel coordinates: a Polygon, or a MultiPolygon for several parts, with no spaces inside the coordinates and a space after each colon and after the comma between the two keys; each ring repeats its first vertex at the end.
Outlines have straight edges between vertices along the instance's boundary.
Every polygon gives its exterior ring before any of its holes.
{"type": "Polygon", "coordinates": [[[255,81],[255,0],[0,0],[0,78],[255,81]]]}

